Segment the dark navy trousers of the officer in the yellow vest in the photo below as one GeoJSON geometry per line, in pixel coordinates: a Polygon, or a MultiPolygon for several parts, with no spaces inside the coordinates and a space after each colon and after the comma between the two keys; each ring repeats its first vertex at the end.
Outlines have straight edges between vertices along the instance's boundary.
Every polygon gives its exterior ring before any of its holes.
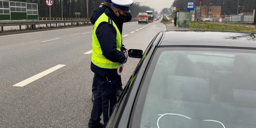
{"type": "Polygon", "coordinates": [[[102,113],[104,120],[103,128],[108,123],[114,105],[117,102],[117,76],[119,76],[117,71],[116,73],[108,74],[108,76],[102,76],[95,73],[95,78],[97,79],[97,90],[94,98],[93,110],[91,111],[91,118],[89,120],[89,128],[98,128],[102,113]]]}

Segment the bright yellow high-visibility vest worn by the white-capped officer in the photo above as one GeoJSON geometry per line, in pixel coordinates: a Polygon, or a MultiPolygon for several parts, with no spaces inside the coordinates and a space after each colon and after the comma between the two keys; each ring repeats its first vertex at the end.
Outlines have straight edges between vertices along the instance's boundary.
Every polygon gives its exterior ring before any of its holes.
{"type": "MultiPolygon", "coordinates": [[[[109,17],[105,13],[103,13],[94,24],[93,43],[92,43],[93,50],[91,53],[91,62],[93,62],[94,65],[96,65],[100,68],[117,69],[118,66],[120,65],[120,63],[112,62],[112,61],[108,60],[105,56],[102,55],[100,43],[99,43],[99,40],[96,35],[96,30],[97,30],[98,26],[100,25],[100,23],[102,23],[102,22],[109,23],[109,17]]],[[[110,21],[110,24],[112,24],[116,29],[116,46],[117,46],[116,49],[118,51],[121,51],[121,44],[122,44],[121,33],[118,30],[116,24],[113,22],[113,20],[110,21]]]]}

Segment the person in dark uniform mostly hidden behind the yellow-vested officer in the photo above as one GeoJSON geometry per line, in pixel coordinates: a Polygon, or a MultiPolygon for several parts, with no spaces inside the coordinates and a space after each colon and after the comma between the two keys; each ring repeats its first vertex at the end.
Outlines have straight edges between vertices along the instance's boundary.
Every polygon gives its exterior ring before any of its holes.
{"type": "MultiPolygon", "coordinates": [[[[90,21],[91,21],[92,24],[95,24],[97,19],[104,13],[106,8],[110,8],[111,3],[112,3],[111,0],[104,0],[104,2],[100,4],[99,8],[94,11],[93,16],[90,18],[90,21]]],[[[124,22],[116,23],[116,26],[119,29],[121,35],[122,35],[122,31],[123,31],[123,23],[129,22],[131,20],[131,18],[132,18],[131,14],[127,13],[124,22]]],[[[121,46],[121,51],[125,51],[126,53],[128,53],[128,50],[125,48],[123,43],[122,43],[122,46],[121,46]]],[[[93,87],[91,89],[91,91],[93,93],[91,95],[91,100],[92,101],[94,101],[94,97],[95,97],[95,93],[96,93],[96,89],[97,89],[96,85],[97,85],[97,78],[94,75],[93,87]]],[[[121,76],[119,75],[119,76],[117,76],[117,84],[116,84],[116,96],[117,96],[117,98],[120,97],[120,95],[123,91],[122,86],[123,86],[123,84],[122,84],[121,76]]]]}

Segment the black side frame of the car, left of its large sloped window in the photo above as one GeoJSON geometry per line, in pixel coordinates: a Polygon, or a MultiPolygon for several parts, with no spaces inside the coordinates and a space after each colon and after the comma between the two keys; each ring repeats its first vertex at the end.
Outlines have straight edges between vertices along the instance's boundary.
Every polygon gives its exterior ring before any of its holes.
{"type": "Polygon", "coordinates": [[[125,128],[128,127],[133,103],[138,94],[138,89],[141,84],[141,80],[144,76],[145,70],[148,63],[151,60],[153,52],[155,51],[156,46],[162,41],[165,32],[159,32],[151,43],[148,45],[145,53],[143,54],[142,59],[139,61],[136,69],[134,70],[132,76],[125,85],[124,91],[120,98],[117,101],[117,104],[114,107],[112,115],[109,119],[109,122],[106,128],[125,128]]]}

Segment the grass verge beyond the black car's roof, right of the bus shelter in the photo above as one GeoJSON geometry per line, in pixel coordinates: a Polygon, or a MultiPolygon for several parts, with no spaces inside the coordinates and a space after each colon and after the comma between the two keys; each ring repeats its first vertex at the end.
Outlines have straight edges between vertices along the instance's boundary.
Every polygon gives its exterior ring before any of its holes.
{"type": "MultiPolygon", "coordinates": [[[[190,29],[198,29],[198,23],[191,22],[190,29]]],[[[203,23],[203,22],[200,23],[200,29],[202,29],[202,30],[256,32],[256,28],[251,28],[251,27],[211,24],[211,23],[203,23]]]]}

